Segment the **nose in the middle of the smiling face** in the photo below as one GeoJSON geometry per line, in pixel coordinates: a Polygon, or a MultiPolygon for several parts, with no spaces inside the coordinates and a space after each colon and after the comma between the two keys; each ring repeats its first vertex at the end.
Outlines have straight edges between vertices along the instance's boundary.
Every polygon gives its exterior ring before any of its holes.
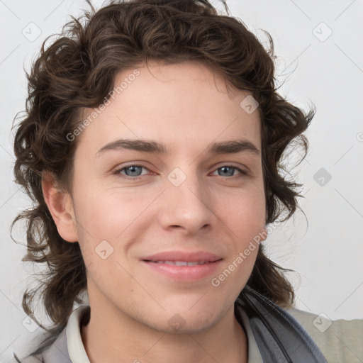
{"type": "Polygon", "coordinates": [[[216,222],[213,199],[196,172],[177,168],[165,182],[158,214],[162,228],[179,228],[187,235],[211,228],[216,222]]]}

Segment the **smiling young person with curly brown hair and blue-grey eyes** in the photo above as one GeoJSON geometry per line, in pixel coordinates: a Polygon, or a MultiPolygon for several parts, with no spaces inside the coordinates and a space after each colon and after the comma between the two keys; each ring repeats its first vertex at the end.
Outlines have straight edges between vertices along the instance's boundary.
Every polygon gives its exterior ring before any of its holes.
{"type": "Polygon", "coordinates": [[[296,211],[279,163],[313,117],[273,48],[206,0],[92,10],[28,75],[16,220],[48,271],[23,308],[40,294],[54,325],[14,362],[347,362],[342,331],[358,356],[362,322],[317,330],[261,244],[296,211]]]}

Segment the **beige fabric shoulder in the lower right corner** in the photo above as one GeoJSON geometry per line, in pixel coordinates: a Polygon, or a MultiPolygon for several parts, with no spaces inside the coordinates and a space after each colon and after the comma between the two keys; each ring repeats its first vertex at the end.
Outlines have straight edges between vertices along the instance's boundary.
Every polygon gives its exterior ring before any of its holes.
{"type": "Polygon", "coordinates": [[[312,337],[328,362],[363,362],[363,319],[330,320],[296,308],[285,311],[312,337]]]}

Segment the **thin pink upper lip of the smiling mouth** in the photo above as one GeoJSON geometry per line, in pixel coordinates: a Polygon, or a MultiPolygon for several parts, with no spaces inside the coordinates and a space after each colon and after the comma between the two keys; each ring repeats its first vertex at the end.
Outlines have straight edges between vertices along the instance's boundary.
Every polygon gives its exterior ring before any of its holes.
{"type": "Polygon", "coordinates": [[[144,261],[208,261],[214,262],[222,257],[206,251],[184,252],[184,251],[164,251],[142,258],[144,261]]]}

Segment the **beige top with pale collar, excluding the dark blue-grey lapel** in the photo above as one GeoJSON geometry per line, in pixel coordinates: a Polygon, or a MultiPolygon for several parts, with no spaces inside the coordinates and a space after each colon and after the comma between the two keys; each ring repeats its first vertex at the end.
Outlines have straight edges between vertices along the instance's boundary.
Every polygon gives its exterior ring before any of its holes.
{"type": "MultiPolygon", "coordinates": [[[[43,352],[45,363],[90,363],[80,330],[82,314],[87,309],[89,306],[80,306],[72,312],[66,328],[48,350],[43,352]]],[[[286,312],[313,338],[329,363],[363,363],[363,319],[340,319],[330,322],[296,308],[288,308],[286,312]]],[[[262,361],[247,315],[243,311],[241,315],[247,333],[248,363],[268,363],[262,361]]],[[[26,357],[21,359],[21,362],[39,363],[39,359],[40,357],[26,357]]],[[[16,360],[13,359],[9,363],[16,363],[16,360]]]]}

